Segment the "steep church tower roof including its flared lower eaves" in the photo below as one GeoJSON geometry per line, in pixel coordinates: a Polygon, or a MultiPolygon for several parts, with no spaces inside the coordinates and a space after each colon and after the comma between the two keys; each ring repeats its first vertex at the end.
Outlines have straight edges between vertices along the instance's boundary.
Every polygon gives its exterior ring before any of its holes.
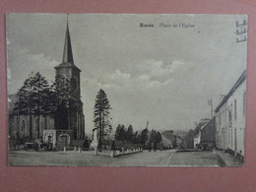
{"type": "Polygon", "coordinates": [[[64,50],[63,50],[63,59],[62,63],[56,66],[55,68],[66,68],[66,67],[73,67],[81,71],[75,64],[73,59],[72,53],[72,45],[71,45],[71,38],[69,33],[69,26],[67,23],[67,30],[65,36],[65,43],[64,43],[64,50]]]}

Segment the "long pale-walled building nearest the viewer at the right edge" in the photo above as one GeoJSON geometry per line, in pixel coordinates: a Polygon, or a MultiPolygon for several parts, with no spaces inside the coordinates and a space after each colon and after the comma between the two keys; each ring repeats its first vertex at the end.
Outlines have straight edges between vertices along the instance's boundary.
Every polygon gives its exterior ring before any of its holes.
{"type": "Polygon", "coordinates": [[[246,71],[215,109],[217,148],[244,157],[246,71]]]}

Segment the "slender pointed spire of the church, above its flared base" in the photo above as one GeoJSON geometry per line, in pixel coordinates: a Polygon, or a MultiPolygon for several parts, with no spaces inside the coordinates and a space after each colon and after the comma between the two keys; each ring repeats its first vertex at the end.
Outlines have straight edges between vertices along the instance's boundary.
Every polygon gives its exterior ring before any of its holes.
{"type": "Polygon", "coordinates": [[[69,34],[68,14],[67,14],[67,30],[66,30],[66,36],[65,36],[65,44],[64,44],[63,61],[62,62],[74,64],[71,39],[70,39],[70,34],[69,34]]]}

